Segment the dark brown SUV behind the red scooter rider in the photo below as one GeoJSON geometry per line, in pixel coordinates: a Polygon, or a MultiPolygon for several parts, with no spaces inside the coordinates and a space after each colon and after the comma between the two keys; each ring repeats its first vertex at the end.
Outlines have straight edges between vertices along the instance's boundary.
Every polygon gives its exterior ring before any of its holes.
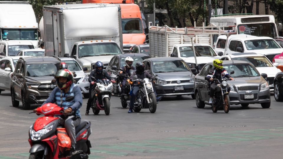
{"type": "Polygon", "coordinates": [[[60,61],[54,57],[20,57],[11,77],[13,107],[22,102],[23,109],[31,104],[43,103],[56,85],[51,84],[60,61]]]}

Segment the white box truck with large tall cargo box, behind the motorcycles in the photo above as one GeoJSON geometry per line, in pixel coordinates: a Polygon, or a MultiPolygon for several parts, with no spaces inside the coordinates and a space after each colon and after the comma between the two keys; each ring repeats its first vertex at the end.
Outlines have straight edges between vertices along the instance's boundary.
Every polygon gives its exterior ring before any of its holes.
{"type": "Polygon", "coordinates": [[[43,6],[43,21],[46,55],[72,56],[88,74],[95,62],[106,67],[122,53],[119,4],[43,6]]]}

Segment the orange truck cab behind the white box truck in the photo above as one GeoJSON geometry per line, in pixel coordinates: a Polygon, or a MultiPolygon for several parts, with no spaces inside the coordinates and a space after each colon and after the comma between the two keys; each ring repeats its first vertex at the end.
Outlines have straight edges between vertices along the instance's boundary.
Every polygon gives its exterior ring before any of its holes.
{"type": "Polygon", "coordinates": [[[134,0],[86,0],[86,3],[119,3],[121,7],[123,51],[136,44],[143,44],[146,40],[142,25],[141,11],[134,0]]]}

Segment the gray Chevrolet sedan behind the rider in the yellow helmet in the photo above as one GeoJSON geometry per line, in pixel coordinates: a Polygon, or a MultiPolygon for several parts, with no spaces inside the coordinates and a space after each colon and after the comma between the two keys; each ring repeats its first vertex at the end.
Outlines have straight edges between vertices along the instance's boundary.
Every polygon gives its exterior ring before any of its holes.
{"type": "MultiPolygon", "coordinates": [[[[261,107],[270,107],[270,90],[264,80],[266,74],[259,74],[257,69],[246,61],[223,61],[223,67],[234,81],[228,81],[231,91],[229,93],[230,104],[241,104],[243,107],[249,104],[260,103],[261,107]]],[[[195,76],[195,98],[198,108],[205,107],[204,101],[209,100],[209,82],[205,80],[208,72],[213,69],[212,62],[206,64],[199,74],[195,76]]]]}

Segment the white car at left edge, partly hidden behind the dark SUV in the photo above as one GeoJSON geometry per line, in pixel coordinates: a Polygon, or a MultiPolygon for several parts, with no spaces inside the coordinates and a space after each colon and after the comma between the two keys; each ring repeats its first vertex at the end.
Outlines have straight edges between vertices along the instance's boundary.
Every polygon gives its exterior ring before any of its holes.
{"type": "Polygon", "coordinates": [[[7,56],[0,60],[0,93],[4,90],[10,90],[11,75],[15,70],[19,58],[20,56],[7,56]]]}

